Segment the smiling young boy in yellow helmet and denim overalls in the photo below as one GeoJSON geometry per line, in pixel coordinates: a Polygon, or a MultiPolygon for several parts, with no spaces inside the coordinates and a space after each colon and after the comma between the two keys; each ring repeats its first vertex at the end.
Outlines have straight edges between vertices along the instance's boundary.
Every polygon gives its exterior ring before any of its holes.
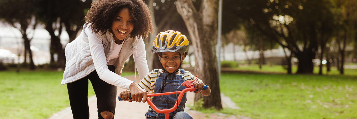
{"type": "MultiPolygon", "coordinates": [[[[159,53],[161,69],[154,69],[144,79],[141,80],[139,86],[149,93],[165,93],[172,91],[180,91],[185,89],[185,86],[180,86],[183,81],[194,80],[196,77],[189,71],[179,69],[183,59],[188,52],[188,40],[185,35],[178,31],[168,30],[157,34],[154,43],[152,44],[152,53],[159,53]],[[178,89],[178,90],[177,90],[178,89]]],[[[211,89],[202,90],[205,85],[202,80],[197,79],[193,85],[202,95],[208,96],[211,94],[211,89]]],[[[120,97],[125,101],[128,100],[130,91],[123,91],[120,97]]],[[[172,108],[177,100],[176,94],[161,95],[150,97],[150,100],[159,109],[172,108]]],[[[170,119],[192,119],[191,115],[185,112],[186,94],[183,95],[177,109],[169,113],[170,119]]],[[[165,115],[157,113],[149,106],[149,111],[145,114],[146,119],[164,119],[165,115]]]]}

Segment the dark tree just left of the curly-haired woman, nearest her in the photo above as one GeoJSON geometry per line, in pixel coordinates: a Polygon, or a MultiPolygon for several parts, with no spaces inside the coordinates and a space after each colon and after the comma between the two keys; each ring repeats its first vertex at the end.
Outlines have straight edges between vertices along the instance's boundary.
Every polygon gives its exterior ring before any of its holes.
{"type": "Polygon", "coordinates": [[[45,24],[45,29],[50,33],[50,64],[54,64],[54,54],[57,54],[57,68],[65,68],[66,58],[64,48],[60,41],[62,29],[65,28],[69,35],[69,42],[76,38],[81,26],[85,23],[84,17],[90,7],[90,0],[42,0],[38,17],[45,24]],[[56,34],[58,33],[58,34],[56,34]]]}

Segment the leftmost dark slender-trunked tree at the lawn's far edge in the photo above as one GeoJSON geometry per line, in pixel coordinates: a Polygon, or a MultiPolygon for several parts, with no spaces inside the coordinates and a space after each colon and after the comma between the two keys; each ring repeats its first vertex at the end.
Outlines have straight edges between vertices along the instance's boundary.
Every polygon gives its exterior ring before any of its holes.
{"type": "MultiPolygon", "coordinates": [[[[30,59],[30,70],[35,69],[35,64],[32,59],[32,51],[30,49],[31,39],[29,38],[29,28],[34,29],[37,25],[35,17],[38,11],[36,5],[37,0],[2,0],[0,1],[0,18],[12,25],[14,28],[19,29],[24,39],[24,64],[27,64],[27,53],[30,59]]],[[[33,33],[33,32],[32,32],[33,33]]],[[[32,35],[33,36],[33,35],[32,35]]]]}

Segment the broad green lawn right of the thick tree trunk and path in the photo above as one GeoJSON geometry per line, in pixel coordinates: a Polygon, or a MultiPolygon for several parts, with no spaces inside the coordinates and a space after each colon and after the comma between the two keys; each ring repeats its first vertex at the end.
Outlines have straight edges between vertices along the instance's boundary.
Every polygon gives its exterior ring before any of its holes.
{"type": "Polygon", "coordinates": [[[357,118],[357,76],[223,73],[220,88],[252,119],[357,118]]]}

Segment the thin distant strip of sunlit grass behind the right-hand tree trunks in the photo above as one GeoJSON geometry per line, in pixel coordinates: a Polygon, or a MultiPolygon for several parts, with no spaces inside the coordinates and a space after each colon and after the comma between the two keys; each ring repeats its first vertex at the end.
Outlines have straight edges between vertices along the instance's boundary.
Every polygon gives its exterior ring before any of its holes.
{"type": "MultiPolygon", "coordinates": [[[[262,65],[262,69],[259,68],[259,65],[252,64],[252,65],[240,65],[238,68],[234,68],[235,70],[241,71],[258,71],[258,72],[271,72],[271,73],[286,73],[286,69],[283,68],[282,65],[262,65]]],[[[291,68],[292,73],[296,73],[297,66],[292,66],[291,68]]],[[[319,67],[315,66],[313,69],[314,74],[318,74],[319,67]]],[[[357,69],[345,69],[345,75],[357,75],[357,69]]],[[[327,73],[326,66],[322,67],[322,74],[329,74],[329,75],[338,75],[340,71],[337,70],[335,67],[331,67],[331,71],[327,73]]]]}

